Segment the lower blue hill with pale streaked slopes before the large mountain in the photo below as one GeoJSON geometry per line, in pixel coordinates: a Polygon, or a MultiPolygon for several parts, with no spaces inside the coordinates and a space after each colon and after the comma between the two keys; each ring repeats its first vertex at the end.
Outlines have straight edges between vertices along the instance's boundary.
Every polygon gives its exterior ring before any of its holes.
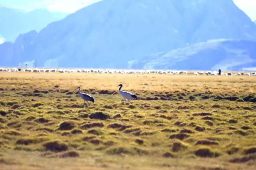
{"type": "Polygon", "coordinates": [[[256,68],[256,42],[210,40],[133,61],[132,68],[178,70],[241,70],[256,68]]]}

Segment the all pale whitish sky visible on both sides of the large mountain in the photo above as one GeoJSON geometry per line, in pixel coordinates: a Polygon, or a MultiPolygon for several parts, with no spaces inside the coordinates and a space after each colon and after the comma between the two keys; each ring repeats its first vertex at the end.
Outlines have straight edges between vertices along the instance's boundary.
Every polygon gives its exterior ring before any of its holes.
{"type": "MultiPolygon", "coordinates": [[[[46,8],[54,12],[76,12],[100,0],[0,0],[0,6],[34,10],[46,8]]],[[[256,20],[256,0],[233,0],[253,21],[256,20]]]]}

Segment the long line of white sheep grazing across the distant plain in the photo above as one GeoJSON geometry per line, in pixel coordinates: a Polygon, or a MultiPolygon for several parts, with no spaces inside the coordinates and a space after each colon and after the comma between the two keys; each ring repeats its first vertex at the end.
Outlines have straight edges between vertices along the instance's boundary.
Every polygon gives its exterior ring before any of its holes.
{"type": "MultiPolygon", "coordinates": [[[[171,70],[115,70],[115,69],[47,69],[47,68],[1,68],[0,72],[59,72],[59,73],[105,73],[105,74],[193,74],[188,73],[187,71],[171,71],[171,70]]],[[[217,71],[201,71],[201,72],[194,72],[194,75],[211,75],[211,76],[217,76],[217,71]]],[[[256,72],[238,72],[235,74],[232,74],[231,72],[222,73],[221,75],[225,76],[256,76],[256,72]]]]}

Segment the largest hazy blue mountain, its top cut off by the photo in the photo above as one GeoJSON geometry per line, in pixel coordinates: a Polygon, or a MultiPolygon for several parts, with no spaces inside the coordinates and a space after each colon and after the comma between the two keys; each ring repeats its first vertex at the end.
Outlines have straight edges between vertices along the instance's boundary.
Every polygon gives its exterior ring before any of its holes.
{"type": "Polygon", "coordinates": [[[102,0],[0,45],[0,65],[129,68],[210,39],[256,41],[256,25],[232,0],[102,0]]]}

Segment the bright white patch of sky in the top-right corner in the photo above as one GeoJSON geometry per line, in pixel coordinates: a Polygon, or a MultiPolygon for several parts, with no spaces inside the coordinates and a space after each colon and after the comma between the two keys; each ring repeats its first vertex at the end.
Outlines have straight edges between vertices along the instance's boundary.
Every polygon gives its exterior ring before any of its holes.
{"type": "Polygon", "coordinates": [[[236,6],[243,10],[252,21],[256,20],[256,0],[233,0],[236,6]]]}

